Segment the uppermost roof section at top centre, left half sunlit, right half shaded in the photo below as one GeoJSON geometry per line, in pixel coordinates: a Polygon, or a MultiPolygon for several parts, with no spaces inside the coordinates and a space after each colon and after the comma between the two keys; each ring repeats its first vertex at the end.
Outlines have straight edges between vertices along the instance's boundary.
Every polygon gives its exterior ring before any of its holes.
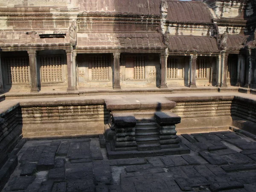
{"type": "Polygon", "coordinates": [[[161,0],[81,0],[79,7],[85,12],[121,12],[160,14],[161,0]]]}

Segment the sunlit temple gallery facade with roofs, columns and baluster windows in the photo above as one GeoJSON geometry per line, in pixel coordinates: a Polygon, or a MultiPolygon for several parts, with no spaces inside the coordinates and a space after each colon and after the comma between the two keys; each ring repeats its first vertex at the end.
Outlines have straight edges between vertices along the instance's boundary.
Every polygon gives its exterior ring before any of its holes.
{"type": "Polygon", "coordinates": [[[0,92],[256,88],[255,0],[0,0],[0,92]]]}

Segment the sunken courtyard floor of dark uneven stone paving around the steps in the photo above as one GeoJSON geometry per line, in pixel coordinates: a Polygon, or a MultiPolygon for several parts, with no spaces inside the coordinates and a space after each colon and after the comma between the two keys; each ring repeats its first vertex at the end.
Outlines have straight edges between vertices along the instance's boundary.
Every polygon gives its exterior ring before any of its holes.
{"type": "Polygon", "coordinates": [[[179,135],[190,154],[108,160],[98,138],[28,140],[3,192],[256,191],[256,141],[232,131],[179,135]]]}

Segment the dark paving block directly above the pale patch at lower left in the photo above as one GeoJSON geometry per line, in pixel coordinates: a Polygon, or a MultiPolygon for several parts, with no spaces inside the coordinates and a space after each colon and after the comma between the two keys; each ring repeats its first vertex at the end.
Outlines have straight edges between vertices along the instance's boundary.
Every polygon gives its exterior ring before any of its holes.
{"type": "Polygon", "coordinates": [[[52,169],[55,163],[55,152],[42,153],[37,164],[39,171],[52,169]]]}

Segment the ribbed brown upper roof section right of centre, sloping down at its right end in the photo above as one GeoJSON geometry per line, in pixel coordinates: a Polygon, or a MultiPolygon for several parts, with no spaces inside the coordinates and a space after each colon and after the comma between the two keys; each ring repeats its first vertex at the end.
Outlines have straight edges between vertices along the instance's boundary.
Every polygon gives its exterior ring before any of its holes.
{"type": "Polygon", "coordinates": [[[207,6],[200,1],[168,1],[167,20],[175,22],[212,23],[207,6]]]}

